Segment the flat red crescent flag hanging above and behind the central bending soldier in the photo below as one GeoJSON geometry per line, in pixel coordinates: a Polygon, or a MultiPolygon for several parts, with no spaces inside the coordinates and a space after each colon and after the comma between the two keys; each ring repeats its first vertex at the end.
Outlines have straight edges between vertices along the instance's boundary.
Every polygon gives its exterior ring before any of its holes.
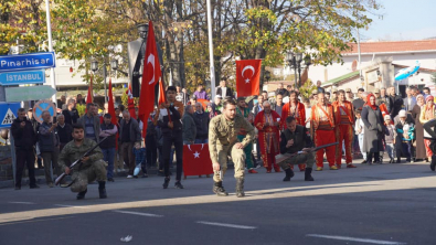
{"type": "Polygon", "coordinates": [[[236,61],[237,97],[259,94],[262,60],[236,61]]]}

